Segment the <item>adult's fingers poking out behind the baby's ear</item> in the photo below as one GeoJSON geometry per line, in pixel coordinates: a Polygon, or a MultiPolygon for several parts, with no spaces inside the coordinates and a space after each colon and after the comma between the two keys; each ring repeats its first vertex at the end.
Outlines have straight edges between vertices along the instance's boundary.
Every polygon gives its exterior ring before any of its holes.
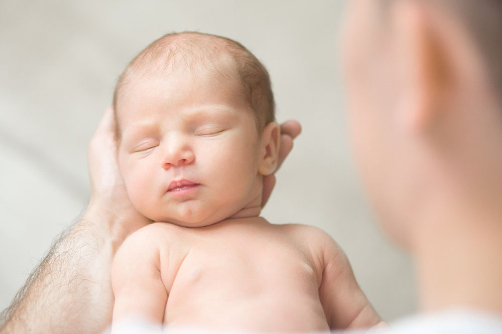
{"type": "MultiPolygon", "coordinates": [[[[293,139],[295,139],[301,131],[302,127],[300,126],[300,123],[295,120],[289,120],[281,124],[281,143],[279,146],[279,158],[276,172],[279,170],[279,167],[283,163],[284,159],[286,159],[289,152],[291,152],[291,149],[293,148],[293,139]]],[[[263,178],[262,208],[265,204],[267,204],[275,185],[275,172],[274,174],[263,178]]]]}

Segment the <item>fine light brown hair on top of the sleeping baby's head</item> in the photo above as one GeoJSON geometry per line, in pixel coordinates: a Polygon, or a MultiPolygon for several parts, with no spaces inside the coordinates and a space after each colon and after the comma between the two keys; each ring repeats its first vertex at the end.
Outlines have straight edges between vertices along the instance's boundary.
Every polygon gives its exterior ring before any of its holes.
{"type": "MultiPolygon", "coordinates": [[[[260,61],[231,39],[198,32],[162,36],[137,55],[120,75],[113,93],[115,120],[117,101],[144,76],[168,76],[179,69],[215,71],[223,80],[237,78],[243,96],[255,111],[258,131],[275,120],[274,94],[267,69],[260,61]]],[[[117,124],[117,136],[120,129],[117,124]]]]}

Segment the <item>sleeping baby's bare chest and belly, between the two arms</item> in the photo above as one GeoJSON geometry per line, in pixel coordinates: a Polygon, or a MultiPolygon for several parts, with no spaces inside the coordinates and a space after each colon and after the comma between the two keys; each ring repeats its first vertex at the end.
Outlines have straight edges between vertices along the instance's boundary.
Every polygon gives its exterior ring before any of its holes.
{"type": "Polygon", "coordinates": [[[314,323],[312,328],[327,329],[315,256],[286,229],[230,226],[184,232],[174,248],[160,254],[168,292],[165,323],[214,326],[216,321],[218,328],[239,323],[257,329],[258,317],[263,328],[314,323]]]}

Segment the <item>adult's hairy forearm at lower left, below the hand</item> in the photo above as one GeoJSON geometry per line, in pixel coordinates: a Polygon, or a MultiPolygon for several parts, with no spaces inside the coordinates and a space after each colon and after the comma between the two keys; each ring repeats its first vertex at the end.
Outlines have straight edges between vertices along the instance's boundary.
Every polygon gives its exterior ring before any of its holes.
{"type": "Polygon", "coordinates": [[[87,212],[63,232],[2,312],[2,333],[98,333],[111,321],[110,267],[126,237],[114,217],[87,212]]]}

